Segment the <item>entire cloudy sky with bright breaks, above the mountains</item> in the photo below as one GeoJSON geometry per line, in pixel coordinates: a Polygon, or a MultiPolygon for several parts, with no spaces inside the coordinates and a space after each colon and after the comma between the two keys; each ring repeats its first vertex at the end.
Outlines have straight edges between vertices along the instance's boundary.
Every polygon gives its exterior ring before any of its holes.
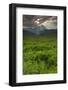
{"type": "Polygon", "coordinates": [[[56,16],[40,16],[40,15],[23,15],[23,27],[41,27],[44,26],[47,29],[57,29],[57,17],[56,16]]]}

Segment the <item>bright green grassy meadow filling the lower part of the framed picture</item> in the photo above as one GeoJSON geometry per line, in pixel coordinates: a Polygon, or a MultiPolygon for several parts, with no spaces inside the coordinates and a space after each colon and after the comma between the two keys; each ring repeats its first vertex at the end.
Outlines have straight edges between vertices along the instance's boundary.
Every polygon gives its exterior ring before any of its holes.
{"type": "Polygon", "coordinates": [[[50,36],[24,36],[23,74],[57,73],[57,38],[50,36]]]}

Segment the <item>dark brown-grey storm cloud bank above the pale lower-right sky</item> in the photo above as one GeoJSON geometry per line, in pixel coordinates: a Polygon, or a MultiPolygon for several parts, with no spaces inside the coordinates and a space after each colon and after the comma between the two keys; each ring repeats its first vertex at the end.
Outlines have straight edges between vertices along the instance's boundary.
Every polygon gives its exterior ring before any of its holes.
{"type": "MultiPolygon", "coordinates": [[[[23,15],[23,26],[25,27],[35,27],[40,25],[47,20],[57,20],[56,16],[40,16],[40,15],[23,15]]],[[[54,23],[57,24],[57,21],[54,23]]]]}

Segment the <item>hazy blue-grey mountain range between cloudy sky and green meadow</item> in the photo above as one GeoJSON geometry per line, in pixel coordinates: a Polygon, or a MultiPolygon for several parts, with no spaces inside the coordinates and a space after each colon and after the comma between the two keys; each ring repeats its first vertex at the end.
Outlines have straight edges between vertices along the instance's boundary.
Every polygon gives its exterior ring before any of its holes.
{"type": "Polygon", "coordinates": [[[41,27],[29,27],[23,29],[24,35],[48,35],[56,34],[57,29],[46,29],[44,26],[41,27]]]}

